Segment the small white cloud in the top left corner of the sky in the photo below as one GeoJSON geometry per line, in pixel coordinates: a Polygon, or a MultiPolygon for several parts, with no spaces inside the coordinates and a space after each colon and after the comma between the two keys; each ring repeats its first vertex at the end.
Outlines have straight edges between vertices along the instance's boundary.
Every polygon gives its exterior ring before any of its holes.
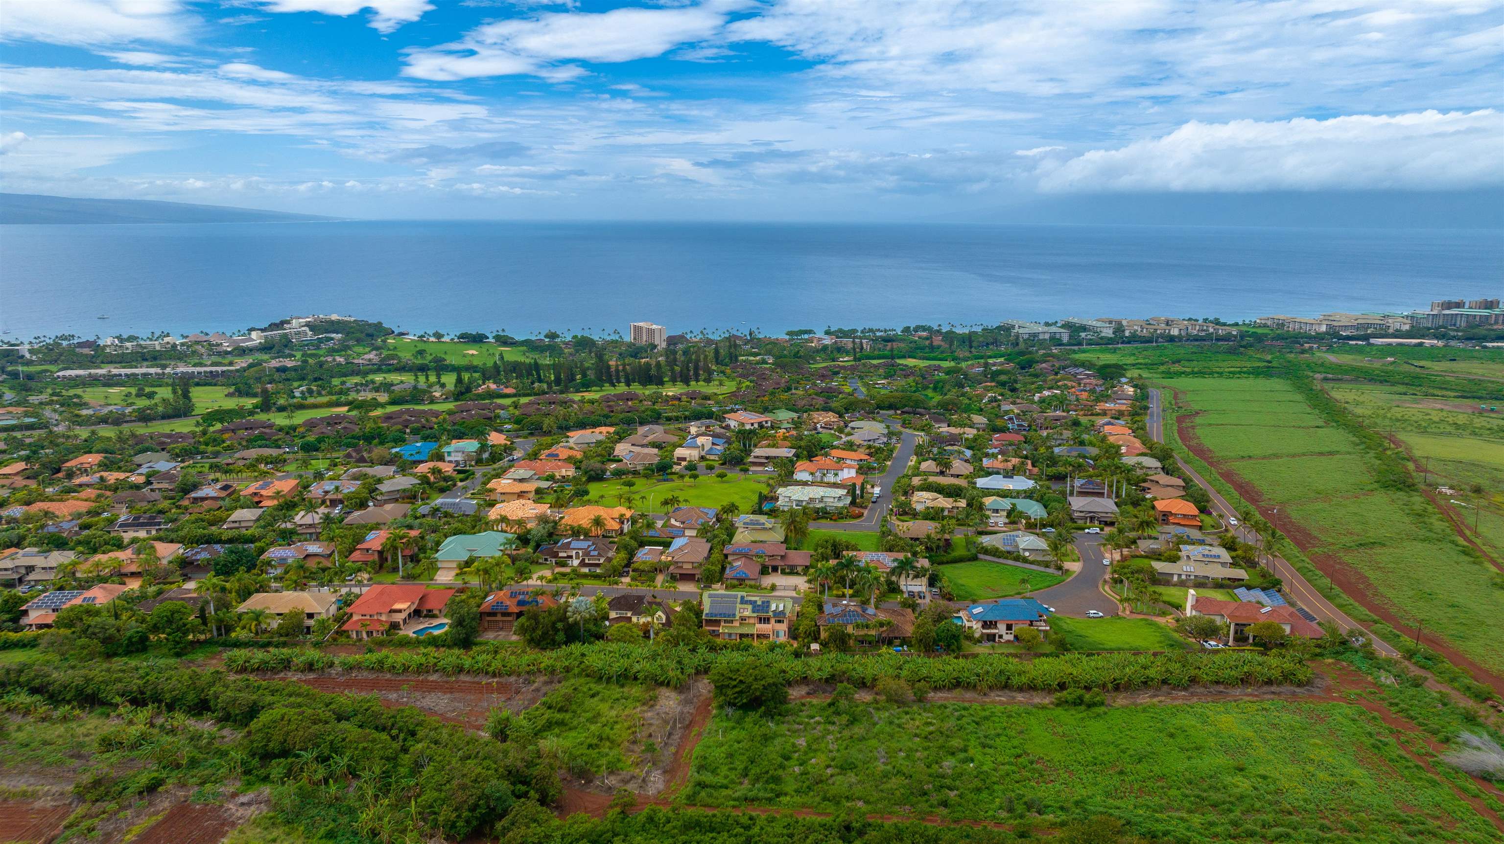
{"type": "Polygon", "coordinates": [[[8,0],[0,41],[170,42],[180,41],[190,23],[179,0],[8,0]]]}

